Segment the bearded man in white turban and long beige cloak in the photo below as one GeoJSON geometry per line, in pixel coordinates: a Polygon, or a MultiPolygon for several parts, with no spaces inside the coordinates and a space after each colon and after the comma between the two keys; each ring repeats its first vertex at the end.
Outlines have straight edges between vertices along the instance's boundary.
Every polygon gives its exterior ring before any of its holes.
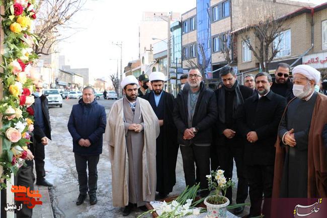
{"type": "Polygon", "coordinates": [[[122,82],[124,97],[109,113],[105,142],[109,144],[113,206],[125,206],[127,216],[136,204],[145,210],[154,200],[156,185],[155,139],[158,119],[148,101],[137,97],[138,81],[127,76],[122,82]]]}

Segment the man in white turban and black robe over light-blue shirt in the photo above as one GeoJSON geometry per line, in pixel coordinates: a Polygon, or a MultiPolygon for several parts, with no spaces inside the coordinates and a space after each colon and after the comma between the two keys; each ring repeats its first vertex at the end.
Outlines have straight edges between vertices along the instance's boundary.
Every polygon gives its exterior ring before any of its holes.
{"type": "Polygon", "coordinates": [[[174,96],[162,90],[165,75],[152,72],[149,76],[153,91],[142,96],[149,101],[156,114],[160,134],[156,138],[156,191],[161,198],[172,192],[176,183],[178,154],[177,129],[173,121],[174,96]]]}

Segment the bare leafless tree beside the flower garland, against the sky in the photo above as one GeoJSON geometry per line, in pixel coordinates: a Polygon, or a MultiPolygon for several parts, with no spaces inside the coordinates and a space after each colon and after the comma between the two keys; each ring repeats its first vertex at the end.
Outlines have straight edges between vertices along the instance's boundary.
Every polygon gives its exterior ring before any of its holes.
{"type": "Polygon", "coordinates": [[[48,55],[57,52],[53,45],[69,38],[77,32],[71,18],[80,11],[87,0],[39,0],[36,3],[37,15],[35,35],[39,37],[34,45],[36,54],[48,55]],[[67,30],[70,34],[67,34],[67,30]],[[65,32],[65,33],[64,33],[65,32]]]}

